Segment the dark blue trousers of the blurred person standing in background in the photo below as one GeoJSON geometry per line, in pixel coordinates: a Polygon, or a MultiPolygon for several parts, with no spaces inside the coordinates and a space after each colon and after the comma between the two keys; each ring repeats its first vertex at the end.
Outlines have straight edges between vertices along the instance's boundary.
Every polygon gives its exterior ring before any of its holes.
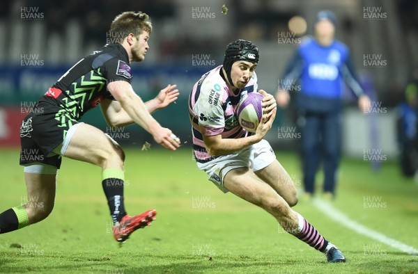
{"type": "Polygon", "coordinates": [[[339,112],[304,112],[300,116],[304,189],[314,193],[315,175],[323,163],[323,190],[335,193],[336,170],[341,156],[341,115],[339,112]]]}

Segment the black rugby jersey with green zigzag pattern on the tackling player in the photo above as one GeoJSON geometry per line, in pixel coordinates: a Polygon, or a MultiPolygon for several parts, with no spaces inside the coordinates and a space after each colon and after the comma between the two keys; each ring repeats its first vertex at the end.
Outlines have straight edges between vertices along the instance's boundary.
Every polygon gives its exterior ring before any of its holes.
{"type": "MultiPolygon", "coordinates": [[[[107,90],[111,81],[132,80],[129,58],[119,43],[104,45],[70,68],[39,100],[43,113],[70,115],[79,120],[104,99],[114,99],[107,90]],[[46,103],[46,104],[42,104],[46,103]]],[[[58,119],[57,119],[58,120],[58,119]]]]}

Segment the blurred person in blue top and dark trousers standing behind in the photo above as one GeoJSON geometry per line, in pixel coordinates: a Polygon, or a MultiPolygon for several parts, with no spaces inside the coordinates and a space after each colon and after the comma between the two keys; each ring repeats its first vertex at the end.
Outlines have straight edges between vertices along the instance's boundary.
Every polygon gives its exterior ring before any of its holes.
{"type": "Polygon", "coordinates": [[[371,106],[350,61],[348,47],[334,39],[336,17],[329,10],[316,18],[315,37],[303,40],[288,63],[279,83],[277,104],[288,105],[291,90],[300,90],[296,108],[301,130],[302,169],[305,197],[314,194],[315,175],[322,159],[325,197],[335,195],[336,170],[341,155],[341,79],[355,92],[359,108],[371,106]],[[298,81],[299,87],[292,89],[298,81]]]}

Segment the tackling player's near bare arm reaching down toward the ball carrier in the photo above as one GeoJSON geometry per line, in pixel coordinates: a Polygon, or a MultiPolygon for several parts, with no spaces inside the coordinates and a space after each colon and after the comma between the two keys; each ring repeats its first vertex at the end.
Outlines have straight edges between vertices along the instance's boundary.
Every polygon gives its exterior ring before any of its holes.
{"type": "MultiPolygon", "coordinates": [[[[161,125],[150,115],[146,105],[134,92],[130,83],[126,81],[114,81],[107,85],[109,92],[121,104],[123,110],[146,131],[153,135],[155,141],[169,150],[176,150],[179,143],[171,138],[170,129],[161,125]]],[[[111,118],[109,118],[111,120],[111,118]]]]}

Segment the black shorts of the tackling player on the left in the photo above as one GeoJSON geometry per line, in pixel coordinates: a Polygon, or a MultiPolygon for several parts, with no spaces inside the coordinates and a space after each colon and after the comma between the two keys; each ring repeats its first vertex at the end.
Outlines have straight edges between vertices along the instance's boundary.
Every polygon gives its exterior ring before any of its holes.
{"type": "Polygon", "coordinates": [[[20,127],[20,165],[45,163],[61,167],[61,155],[52,153],[63,143],[68,129],[78,121],[67,111],[50,104],[38,104],[20,127]]]}

